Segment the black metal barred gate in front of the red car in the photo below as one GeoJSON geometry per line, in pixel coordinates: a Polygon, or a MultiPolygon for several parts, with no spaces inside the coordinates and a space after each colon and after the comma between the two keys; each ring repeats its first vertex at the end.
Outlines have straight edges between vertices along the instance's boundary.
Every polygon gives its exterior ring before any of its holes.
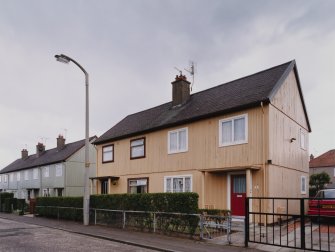
{"type": "Polygon", "coordinates": [[[322,215],[324,206],[322,200],[317,200],[320,210],[308,215],[311,201],[310,198],[246,198],[245,246],[252,242],[335,251],[335,204],[327,206],[334,208],[333,216],[322,215]]]}

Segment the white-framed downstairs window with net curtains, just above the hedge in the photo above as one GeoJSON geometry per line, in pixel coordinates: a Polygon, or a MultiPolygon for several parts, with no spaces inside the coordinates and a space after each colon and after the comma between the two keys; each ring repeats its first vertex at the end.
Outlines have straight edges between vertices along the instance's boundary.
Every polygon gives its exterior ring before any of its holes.
{"type": "Polygon", "coordinates": [[[192,176],[164,177],[164,192],[192,192],[192,176]]]}

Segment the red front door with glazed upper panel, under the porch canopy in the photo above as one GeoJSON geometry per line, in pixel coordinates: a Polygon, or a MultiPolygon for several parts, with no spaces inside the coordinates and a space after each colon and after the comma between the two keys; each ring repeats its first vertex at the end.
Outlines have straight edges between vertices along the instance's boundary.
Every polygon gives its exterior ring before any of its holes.
{"type": "Polygon", "coordinates": [[[231,214],[245,215],[246,177],[245,175],[231,176],[231,214]]]}

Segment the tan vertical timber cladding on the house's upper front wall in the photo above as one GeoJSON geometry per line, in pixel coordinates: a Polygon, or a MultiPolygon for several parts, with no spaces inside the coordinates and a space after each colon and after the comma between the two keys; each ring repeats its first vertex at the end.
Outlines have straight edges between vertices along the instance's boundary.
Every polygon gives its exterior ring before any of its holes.
{"type": "MultiPolygon", "coordinates": [[[[148,133],[145,135],[145,158],[136,162],[130,158],[130,138],[113,142],[115,151],[113,163],[102,163],[102,146],[98,145],[99,176],[109,176],[111,172],[113,176],[122,176],[260,165],[263,145],[261,107],[243,112],[248,114],[247,143],[219,147],[219,120],[240,114],[232,113],[148,133]],[[168,154],[168,132],[185,127],[188,128],[188,151],[168,154]]],[[[140,137],[144,136],[138,138],[140,137]]]]}

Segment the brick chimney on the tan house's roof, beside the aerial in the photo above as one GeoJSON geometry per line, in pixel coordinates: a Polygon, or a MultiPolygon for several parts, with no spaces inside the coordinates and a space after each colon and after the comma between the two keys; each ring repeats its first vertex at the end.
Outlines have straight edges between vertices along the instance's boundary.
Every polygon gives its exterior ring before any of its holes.
{"type": "Polygon", "coordinates": [[[172,107],[185,104],[190,99],[190,82],[185,75],[176,75],[172,84],[172,107]]]}

